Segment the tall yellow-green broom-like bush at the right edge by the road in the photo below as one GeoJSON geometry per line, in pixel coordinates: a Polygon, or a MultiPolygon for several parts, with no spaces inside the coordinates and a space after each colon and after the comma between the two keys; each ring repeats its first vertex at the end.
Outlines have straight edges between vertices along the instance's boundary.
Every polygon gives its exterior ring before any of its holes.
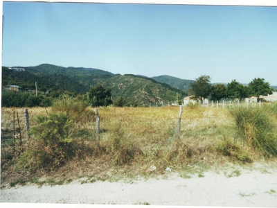
{"type": "Polygon", "coordinates": [[[277,155],[277,126],[274,108],[271,107],[233,107],[230,110],[235,120],[238,136],[244,144],[263,155],[277,155]]]}

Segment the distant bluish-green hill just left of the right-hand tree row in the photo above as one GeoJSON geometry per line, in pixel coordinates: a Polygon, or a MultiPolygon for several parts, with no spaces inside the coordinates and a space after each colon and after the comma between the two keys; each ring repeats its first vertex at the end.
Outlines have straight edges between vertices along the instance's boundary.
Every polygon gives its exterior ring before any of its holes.
{"type": "Polygon", "coordinates": [[[158,81],[159,83],[166,83],[171,87],[184,90],[185,92],[188,92],[188,88],[190,87],[190,84],[195,82],[195,80],[183,80],[181,78],[176,78],[176,77],[167,76],[167,75],[154,76],[152,77],[152,79],[158,81]]]}

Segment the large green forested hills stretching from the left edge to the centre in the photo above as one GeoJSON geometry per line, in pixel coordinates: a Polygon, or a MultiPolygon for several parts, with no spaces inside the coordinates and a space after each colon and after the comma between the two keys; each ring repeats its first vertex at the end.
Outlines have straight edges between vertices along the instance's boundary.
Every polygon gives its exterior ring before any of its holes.
{"type": "MultiPolygon", "coordinates": [[[[180,89],[171,87],[156,80],[134,75],[120,75],[100,69],[83,67],[58,67],[52,64],[41,64],[36,67],[21,67],[25,71],[13,71],[2,67],[2,85],[19,85],[19,87],[35,89],[37,82],[41,91],[75,92],[84,94],[90,86],[98,83],[111,88],[113,100],[123,97],[125,101],[139,103],[175,101],[176,94],[179,98],[186,96],[180,89]]],[[[57,93],[56,93],[57,94],[57,93]]]]}

